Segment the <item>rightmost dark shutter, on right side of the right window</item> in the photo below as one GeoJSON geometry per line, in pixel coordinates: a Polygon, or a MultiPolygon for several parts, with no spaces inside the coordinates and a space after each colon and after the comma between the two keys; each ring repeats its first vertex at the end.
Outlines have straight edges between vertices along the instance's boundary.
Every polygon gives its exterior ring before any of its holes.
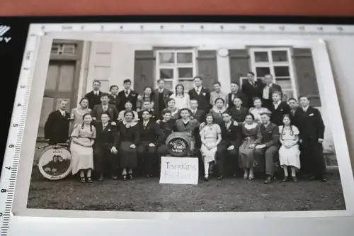
{"type": "Polygon", "coordinates": [[[321,106],[312,50],[310,48],[293,48],[292,58],[299,96],[309,96],[311,106],[321,106]]]}

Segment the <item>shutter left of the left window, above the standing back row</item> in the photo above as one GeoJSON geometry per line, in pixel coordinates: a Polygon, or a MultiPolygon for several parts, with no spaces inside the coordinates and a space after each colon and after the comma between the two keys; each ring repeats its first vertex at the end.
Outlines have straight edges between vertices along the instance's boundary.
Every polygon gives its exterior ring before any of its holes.
{"type": "Polygon", "coordinates": [[[145,86],[154,89],[155,56],[152,50],[136,50],[134,65],[134,90],[142,94],[145,86]]]}

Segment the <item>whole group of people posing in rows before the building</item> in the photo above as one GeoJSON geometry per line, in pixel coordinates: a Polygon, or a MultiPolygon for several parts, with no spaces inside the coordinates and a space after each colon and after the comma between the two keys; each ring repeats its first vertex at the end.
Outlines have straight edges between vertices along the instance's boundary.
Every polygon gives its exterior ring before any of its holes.
{"type": "Polygon", "coordinates": [[[124,89],[110,86],[110,94],[101,92],[101,82],[71,113],[67,101],[50,113],[45,123],[45,138],[50,145],[70,140],[72,174],[79,172],[82,182],[91,182],[91,172],[98,181],[105,176],[133,179],[136,173],[159,175],[162,156],[169,154],[166,139],[173,132],[183,132],[192,140],[193,157],[201,159],[205,181],[211,174],[217,179],[237,176],[253,179],[253,169],[263,167],[265,184],[270,184],[277,167],[283,181],[297,181],[297,171],[310,179],[326,181],[323,156],[324,122],[321,113],[309,106],[309,98],[283,101],[282,88],[271,74],[248,81],[240,87],[232,82],[231,92],[222,92],[219,82],[213,91],[202,86],[202,77],[194,77],[194,89],[175,91],[147,86],[142,94],[131,89],[125,79],[124,89]],[[290,172],[290,174],[289,174],[290,172]]]}

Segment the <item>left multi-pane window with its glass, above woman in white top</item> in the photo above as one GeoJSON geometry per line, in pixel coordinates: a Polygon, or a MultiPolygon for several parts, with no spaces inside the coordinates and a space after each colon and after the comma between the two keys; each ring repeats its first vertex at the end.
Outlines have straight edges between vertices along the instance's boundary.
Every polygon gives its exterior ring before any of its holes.
{"type": "Polygon", "coordinates": [[[156,77],[165,80],[166,88],[174,91],[177,84],[183,84],[187,92],[193,89],[194,76],[194,50],[156,51],[156,77]]]}

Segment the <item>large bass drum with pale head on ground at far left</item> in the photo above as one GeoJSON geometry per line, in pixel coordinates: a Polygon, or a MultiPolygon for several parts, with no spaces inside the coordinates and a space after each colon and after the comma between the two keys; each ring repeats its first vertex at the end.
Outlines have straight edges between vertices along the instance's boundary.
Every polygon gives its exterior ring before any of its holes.
{"type": "Polygon", "coordinates": [[[66,147],[47,147],[40,154],[38,168],[46,179],[64,179],[72,172],[72,154],[66,147]]]}

